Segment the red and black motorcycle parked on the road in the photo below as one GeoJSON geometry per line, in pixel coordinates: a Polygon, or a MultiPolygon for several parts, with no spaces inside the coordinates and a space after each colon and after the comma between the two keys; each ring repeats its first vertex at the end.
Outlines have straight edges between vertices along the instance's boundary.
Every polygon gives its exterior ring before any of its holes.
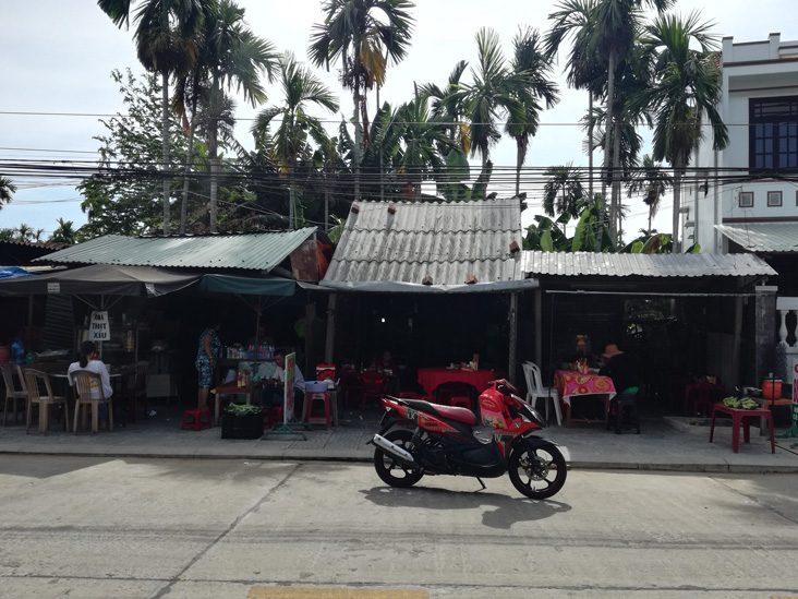
{"type": "Polygon", "coordinates": [[[516,489],[546,499],[565,484],[567,464],[557,445],[535,436],[541,415],[498,380],[480,395],[480,422],[468,408],[418,399],[383,398],[385,415],[374,468],[391,487],[412,487],[424,475],[498,478],[509,472],[516,489]]]}

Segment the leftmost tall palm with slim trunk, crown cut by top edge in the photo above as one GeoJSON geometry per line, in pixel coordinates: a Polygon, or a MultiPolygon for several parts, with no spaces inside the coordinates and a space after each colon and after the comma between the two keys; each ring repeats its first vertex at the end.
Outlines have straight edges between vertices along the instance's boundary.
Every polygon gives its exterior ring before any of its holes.
{"type": "MultiPolygon", "coordinates": [[[[197,33],[207,7],[215,0],[141,0],[135,11],[134,39],[145,69],[161,75],[161,139],[164,169],[169,165],[169,75],[186,72],[198,52],[197,33]]],[[[97,0],[100,9],[122,27],[130,24],[135,0],[97,0]]],[[[164,176],[164,235],[170,233],[169,191],[164,176]]]]}

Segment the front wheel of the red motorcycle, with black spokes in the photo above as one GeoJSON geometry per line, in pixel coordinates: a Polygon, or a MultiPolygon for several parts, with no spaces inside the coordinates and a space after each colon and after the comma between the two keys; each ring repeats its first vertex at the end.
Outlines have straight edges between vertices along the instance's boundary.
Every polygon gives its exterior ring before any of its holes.
{"type": "Polygon", "coordinates": [[[512,486],[531,499],[547,499],[565,484],[568,466],[556,445],[530,447],[525,443],[510,455],[512,486]]]}

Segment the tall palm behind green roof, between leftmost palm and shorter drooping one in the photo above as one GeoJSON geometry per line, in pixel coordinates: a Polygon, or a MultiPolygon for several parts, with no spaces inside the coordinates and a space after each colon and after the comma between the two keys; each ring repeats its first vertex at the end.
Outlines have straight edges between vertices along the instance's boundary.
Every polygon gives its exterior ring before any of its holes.
{"type": "Polygon", "coordinates": [[[256,106],[266,99],[259,76],[265,71],[269,81],[277,62],[271,44],[255,36],[244,21],[244,9],[231,0],[219,0],[206,17],[205,43],[200,60],[209,73],[209,122],[207,127],[210,159],[210,232],[217,230],[217,194],[219,177],[219,116],[226,104],[225,91],[231,87],[256,106]]]}

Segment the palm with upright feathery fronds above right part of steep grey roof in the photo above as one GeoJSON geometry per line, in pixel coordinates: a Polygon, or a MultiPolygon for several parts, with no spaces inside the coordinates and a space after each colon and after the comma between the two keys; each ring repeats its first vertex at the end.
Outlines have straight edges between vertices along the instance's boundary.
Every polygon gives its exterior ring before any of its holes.
{"type": "Polygon", "coordinates": [[[486,27],[476,33],[479,68],[471,69],[472,82],[461,85],[458,95],[470,121],[471,155],[482,156],[483,170],[491,146],[501,139],[499,119],[524,123],[525,107],[535,103],[524,75],[510,70],[496,32],[486,27]]]}

